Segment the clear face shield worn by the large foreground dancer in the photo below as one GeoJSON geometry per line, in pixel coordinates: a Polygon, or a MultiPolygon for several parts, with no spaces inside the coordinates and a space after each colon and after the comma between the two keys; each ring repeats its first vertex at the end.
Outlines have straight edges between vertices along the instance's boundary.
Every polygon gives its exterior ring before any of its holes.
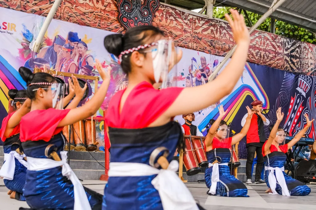
{"type": "Polygon", "coordinates": [[[178,48],[172,40],[158,40],[151,49],[155,82],[162,82],[161,88],[177,86],[178,48]]]}

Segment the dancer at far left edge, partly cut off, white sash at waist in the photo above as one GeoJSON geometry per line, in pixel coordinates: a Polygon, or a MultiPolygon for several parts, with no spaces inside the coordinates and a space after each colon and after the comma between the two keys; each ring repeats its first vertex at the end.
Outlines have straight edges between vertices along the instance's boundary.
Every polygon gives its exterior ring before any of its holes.
{"type": "MultiPolygon", "coordinates": [[[[3,141],[4,163],[0,170],[5,186],[9,189],[10,198],[25,201],[23,187],[25,184],[27,162],[22,155],[11,151],[12,144],[21,145],[20,121],[21,117],[31,110],[31,100],[27,99],[26,90],[9,90],[9,97],[13,99],[14,112],[6,116],[2,121],[0,138],[3,141]]],[[[19,146],[18,146],[19,147],[19,146]]]]}

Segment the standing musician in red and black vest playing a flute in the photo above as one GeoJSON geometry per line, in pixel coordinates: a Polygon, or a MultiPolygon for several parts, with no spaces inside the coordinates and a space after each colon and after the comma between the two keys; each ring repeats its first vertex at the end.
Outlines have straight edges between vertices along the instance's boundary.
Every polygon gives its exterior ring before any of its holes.
{"type": "MultiPolygon", "coordinates": [[[[251,184],[251,171],[252,171],[252,163],[253,158],[255,156],[255,152],[257,153],[257,166],[256,166],[256,174],[255,174],[255,182],[256,183],[264,183],[264,180],[261,179],[261,171],[263,164],[263,156],[262,156],[262,146],[266,140],[264,135],[263,125],[269,125],[270,121],[261,113],[262,112],[262,101],[255,100],[251,103],[252,109],[256,110],[252,115],[250,128],[247,132],[247,162],[246,162],[246,183],[251,184]]],[[[241,121],[241,126],[244,127],[246,123],[246,114],[241,121]]]]}

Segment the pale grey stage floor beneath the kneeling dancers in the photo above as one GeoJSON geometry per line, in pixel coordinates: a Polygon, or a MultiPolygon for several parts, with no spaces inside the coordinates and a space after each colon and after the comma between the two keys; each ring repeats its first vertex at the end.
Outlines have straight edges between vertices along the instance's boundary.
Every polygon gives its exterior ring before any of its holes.
{"type": "MultiPolygon", "coordinates": [[[[82,182],[86,187],[103,194],[103,189],[106,184],[104,181],[99,180],[84,180],[82,182]]],[[[267,189],[265,184],[249,184],[248,195],[250,197],[219,197],[208,196],[206,191],[208,190],[205,183],[187,183],[194,198],[205,209],[217,209],[217,210],[268,210],[268,209],[291,209],[291,210],[307,210],[315,209],[316,207],[316,185],[309,185],[312,189],[311,194],[308,196],[275,196],[265,193],[267,189]]],[[[8,189],[3,184],[3,179],[0,179],[0,210],[17,210],[19,207],[28,207],[24,201],[16,201],[9,199],[7,195],[8,189]]],[[[128,208],[127,208],[128,209],[128,208]]]]}

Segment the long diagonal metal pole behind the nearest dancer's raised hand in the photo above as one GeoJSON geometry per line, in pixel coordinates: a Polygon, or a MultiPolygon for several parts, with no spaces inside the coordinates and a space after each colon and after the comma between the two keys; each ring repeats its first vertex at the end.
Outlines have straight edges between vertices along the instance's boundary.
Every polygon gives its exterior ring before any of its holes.
{"type": "MultiPolygon", "coordinates": [[[[269,17],[274,11],[276,11],[276,9],[281,6],[281,4],[283,4],[283,2],[285,2],[286,0],[279,0],[278,2],[276,2],[274,5],[271,5],[269,10],[264,13],[264,15],[262,15],[262,17],[256,22],[256,24],[254,24],[250,29],[249,29],[249,34],[251,34],[254,30],[256,30],[256,28],[258,28],[258,26],[260,26],[261,23],[264,22],[264,20],[269,17]]],[[[216,67],[216,69],[213,72],[212,77],[209,77],[209,81],[212,81],[217,73],[222,69],[222,67],[224,66],[224,64],[227,62],[227,60],[230,58],[230,56],[232,56],[232,54],[235,52],[237,45],[235,45],[229,52],[228,54],[225,56],[224,60],[222,60],[222,62],[216,67]]]]}

